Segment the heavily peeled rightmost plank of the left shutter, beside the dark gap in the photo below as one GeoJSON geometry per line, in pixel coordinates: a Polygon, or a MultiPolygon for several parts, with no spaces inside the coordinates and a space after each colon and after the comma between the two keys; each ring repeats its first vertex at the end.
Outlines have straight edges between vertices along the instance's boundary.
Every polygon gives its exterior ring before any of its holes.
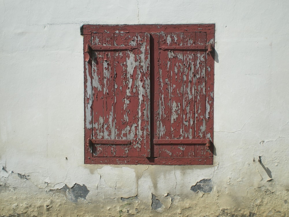
{"type": "Polygon", "coordinates": [[[150,36],[138,34],[138,149],[139,157],[150,157],[150,36]]]}

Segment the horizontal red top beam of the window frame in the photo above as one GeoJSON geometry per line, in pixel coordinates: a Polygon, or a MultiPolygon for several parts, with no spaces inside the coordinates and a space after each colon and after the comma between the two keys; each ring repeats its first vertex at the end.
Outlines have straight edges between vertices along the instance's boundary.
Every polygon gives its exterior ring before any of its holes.
{"type": "Polygon", "coordinates": [[[181,25],[83,25],[83,34],[105,32],[155,33],[155,32],[207,32],[215,33],[215,24],[181,25]]]}

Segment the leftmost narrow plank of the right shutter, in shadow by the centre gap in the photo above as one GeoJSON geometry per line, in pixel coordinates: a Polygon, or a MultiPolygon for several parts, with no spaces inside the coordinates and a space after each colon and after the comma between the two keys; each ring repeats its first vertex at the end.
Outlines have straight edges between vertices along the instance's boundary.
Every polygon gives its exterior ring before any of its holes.
{"type": "MultiPolygon", "coordinates": [[[[160,33],[151,33],[151,98],[153,102],[151,103],[151,120],[153,121],[151,125],[151,144],[153,144],[153,139],[160,139],[160,44],[159,44],[160,33]]],[[[153,145],[151,157],[160,156],[160,146],[153,145]]]]}

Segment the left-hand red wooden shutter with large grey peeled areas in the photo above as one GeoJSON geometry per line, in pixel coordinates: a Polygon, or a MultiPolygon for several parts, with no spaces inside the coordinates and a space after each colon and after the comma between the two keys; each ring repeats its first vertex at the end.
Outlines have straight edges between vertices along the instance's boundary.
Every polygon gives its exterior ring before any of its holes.
{"type": "Polygon", "coordinates": [[[92,157],[149,157],[149,34],[91,40],[92,157]]]}

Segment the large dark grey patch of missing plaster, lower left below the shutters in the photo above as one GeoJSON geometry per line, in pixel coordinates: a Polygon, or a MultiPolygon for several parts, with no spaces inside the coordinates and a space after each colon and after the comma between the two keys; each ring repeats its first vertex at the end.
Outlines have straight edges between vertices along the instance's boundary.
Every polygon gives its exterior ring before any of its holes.
{"type": "Polygon", "coordinates": [[[86,199],[86,196],[89,193],[89,190],[85,185],[81,186],[77,183],[75,183],[71,188],[64,185],[61,189],[51,191],[64,193],[67,199],[73,203],[77,203],[79,198],[86,199]]]}

